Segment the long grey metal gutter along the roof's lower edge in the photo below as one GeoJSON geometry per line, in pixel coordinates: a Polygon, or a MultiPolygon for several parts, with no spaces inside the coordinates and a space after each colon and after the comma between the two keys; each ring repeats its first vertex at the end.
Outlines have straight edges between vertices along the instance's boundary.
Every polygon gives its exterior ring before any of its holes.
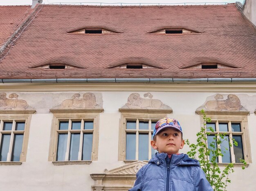
{"type": "Polygon", "coordinates": [[[0,83],[256,83],[256,78],[0,79],[0,83]]]}

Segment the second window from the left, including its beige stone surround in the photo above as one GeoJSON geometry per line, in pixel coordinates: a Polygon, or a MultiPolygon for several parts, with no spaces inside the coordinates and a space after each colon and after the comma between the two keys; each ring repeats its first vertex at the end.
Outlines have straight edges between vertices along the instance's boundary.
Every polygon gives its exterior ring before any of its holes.
{"type": "Polygon", "coordinates": [[[103,109],[51,110],[54,113],[49,161],[90,164],[98,158],[99,113],[103,109]]]}

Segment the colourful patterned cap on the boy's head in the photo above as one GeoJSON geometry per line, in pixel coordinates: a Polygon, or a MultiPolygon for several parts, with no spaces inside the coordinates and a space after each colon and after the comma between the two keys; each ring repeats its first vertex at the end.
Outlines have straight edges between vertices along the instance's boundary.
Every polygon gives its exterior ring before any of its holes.
{"type": "Polygon", "coordinates": [[[160,119],[155,124],[153,138],[157,133],[159,133],[159,131],[163,130],[166,127],[173,127],[182,133],[182,128],[180,126],[180,123],[176,119],[166,117],[166,118],[160,119]]]}

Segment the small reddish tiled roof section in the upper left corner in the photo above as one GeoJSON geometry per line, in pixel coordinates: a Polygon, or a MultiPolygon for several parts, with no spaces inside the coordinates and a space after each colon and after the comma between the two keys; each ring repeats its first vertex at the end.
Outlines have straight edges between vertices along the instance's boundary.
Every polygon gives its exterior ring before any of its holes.
{"type": "Polygon", "coordinates": [[[14,29],[29,13],[30,6],[0,6],[0,45],[2,46],[14,29]]]}

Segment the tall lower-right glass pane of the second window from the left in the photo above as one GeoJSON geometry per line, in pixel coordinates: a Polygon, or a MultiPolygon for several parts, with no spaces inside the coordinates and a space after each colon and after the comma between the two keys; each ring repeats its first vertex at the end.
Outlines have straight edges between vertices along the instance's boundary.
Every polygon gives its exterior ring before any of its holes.
{"type": "Polygon", "coordinates": [[[82,160],[92,160],[92,133],[83,134],[82,160]]]}

